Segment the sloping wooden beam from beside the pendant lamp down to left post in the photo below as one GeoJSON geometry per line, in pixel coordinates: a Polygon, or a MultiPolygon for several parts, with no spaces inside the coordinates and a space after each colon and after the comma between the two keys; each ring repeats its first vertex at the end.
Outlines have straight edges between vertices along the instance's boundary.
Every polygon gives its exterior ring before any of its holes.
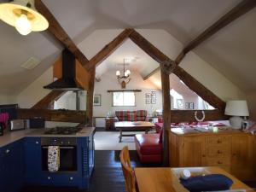
{"type": "Polygon", "coordinates": [[[45,4],[41,0],[35,0],[35,6],[38,12],[49,21],[48,31],[73,53],[82,66],[85,66],[88,59],[79,50],[77,45],[73,43],[73,40],[67,35],[67,32],[61,27],[61,24],[55,19],[55,16],[51,14],[45,4]]]}

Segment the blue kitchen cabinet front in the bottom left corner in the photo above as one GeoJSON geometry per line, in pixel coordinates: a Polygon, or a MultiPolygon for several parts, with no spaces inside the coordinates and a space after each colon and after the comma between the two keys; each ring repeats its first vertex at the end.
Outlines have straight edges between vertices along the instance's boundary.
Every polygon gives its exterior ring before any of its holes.
{"type": "Polygon", "coordinates": [[[23,184],[23,139],[0,149],[0,191],[17,192],[23,184]]]}

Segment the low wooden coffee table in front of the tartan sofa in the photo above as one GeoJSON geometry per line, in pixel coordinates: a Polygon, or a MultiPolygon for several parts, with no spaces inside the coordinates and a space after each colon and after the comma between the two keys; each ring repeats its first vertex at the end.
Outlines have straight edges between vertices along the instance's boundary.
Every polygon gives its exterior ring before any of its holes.
{"type": "Polygon", "coordinates": [[[123,131],[145,131],[148,134],[154,124],[148,121],[119,121],[114,123],[116,130],[120,132],[119,143],[122,142],[122,137],[134,137],[135,134],[124,134],[123,131]]]}

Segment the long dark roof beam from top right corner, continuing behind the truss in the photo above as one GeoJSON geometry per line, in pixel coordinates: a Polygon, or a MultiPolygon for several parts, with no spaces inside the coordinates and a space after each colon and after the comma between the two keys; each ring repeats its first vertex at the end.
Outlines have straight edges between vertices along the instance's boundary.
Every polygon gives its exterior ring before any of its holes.
{"type": "MultiPolygon", "coordinates": [[[[179,63],[183,61],[183,58],[187,53],[189,53],[190,50],[195,49],[197,46],[199,46],[201,43],[206,41],[208,38],[211,38],[212,35],[214,35],[216,32],[224,28],[224,26],[228,26],[232,21],[236,20],[241,15],[245,15],[248,11],[253,9],[255,6],[256,6],[255,0],[243,0],[241,1],[241,3],[238,3],[236,7],[231,9],[219,20],[213,23],[212,26],[209,26],[199,36],[197,36],[195,39],[190,41],[189,44],[183,48],[181,53],[177,55],[177,58],[175,59],[176,64],[179,65],[179,63]]],[[[152,75],[154,75],[158,71],[160,71],[160,67],[155,68],[151,73],[149,73],[143,79],[146,80],[150,78],[152,75]]]]}

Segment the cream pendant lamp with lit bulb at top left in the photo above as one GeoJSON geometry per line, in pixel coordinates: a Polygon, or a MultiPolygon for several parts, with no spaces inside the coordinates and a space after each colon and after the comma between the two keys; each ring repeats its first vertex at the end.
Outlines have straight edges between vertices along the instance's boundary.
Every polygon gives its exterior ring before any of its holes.
{"type": "Polygon", "coordinates": [[[39,14],[34,0],[15,0],[0,4],[0,19],[15,26],[21,35],[44,31],[49,27],[48,20],[39,14]]]}

